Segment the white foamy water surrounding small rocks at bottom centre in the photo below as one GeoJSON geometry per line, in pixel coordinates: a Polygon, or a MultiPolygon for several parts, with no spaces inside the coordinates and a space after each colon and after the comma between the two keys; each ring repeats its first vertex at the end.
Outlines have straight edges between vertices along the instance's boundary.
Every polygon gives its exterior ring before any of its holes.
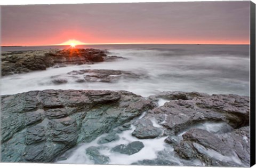
{"type": "Polygon", "coordinates": [[[102,155],[108,156],[110,158],[109,164],[124,164],[130,165],[132,163],[142,161],[143,159],[155,159],[157,158],[158,151],[164,150],[167,146],[164,142],[166,137],[156,138],[156,139],[137,139],[132,136],[132,132],[135,127],[132,126],[131,130],[123,131],[119,133],[119,140],[105,143],[103,145],[99,145],[97,141],[105,136],[106,134],[102,134],[97,139],[93,140],[90,143],[83,143],[78,147],[67,151],[61,157],[67,157],[65,161],[57,161],[56,163],[72,163],[72,164],[93,164],[94,162],[90,160],[89,156],[86,155],[86,149],[90,146],[105,146],[106,149],[100,150],[102,155]],[[111,151],[111,148],[114,148],[117,145],[127,145],[133,141],[141,141],[145,147],[143,147],[138,153],[133,155],[125,155],[111,151]],[[71,153],[71,155],[70,155],[71,153]]]}

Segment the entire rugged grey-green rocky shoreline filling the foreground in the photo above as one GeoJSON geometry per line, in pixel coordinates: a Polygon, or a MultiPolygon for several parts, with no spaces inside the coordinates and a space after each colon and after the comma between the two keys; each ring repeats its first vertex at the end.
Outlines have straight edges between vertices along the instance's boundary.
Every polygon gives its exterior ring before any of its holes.
{"type": "MultiPolygon", "coordinates": [[[[134,155],[144,139],[165,138],[155,159],[134,165],[250,166],[249,97],[234,94],[161,92],[143,98],[127,91],[44,90],[1,96],[1,161],[54,162],[68,149],[105,134],[98,144],[131,130],[137,141],[109,149],[134,155]],[[219,125],[209,129],[205,125],[219,125]],[[171,150],[173,149],[173,150],[171,150]]],[[[94,164],[110,159],[91,146],[94,164]]]]}

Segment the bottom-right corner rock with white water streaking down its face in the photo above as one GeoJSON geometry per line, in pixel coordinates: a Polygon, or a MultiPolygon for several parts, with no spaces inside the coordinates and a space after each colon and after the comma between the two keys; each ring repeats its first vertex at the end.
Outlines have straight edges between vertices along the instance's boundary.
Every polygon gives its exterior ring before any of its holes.
{"type": "Polygon", "coordinates": [[[198,158],[206,165],[250,165],[249,127],[225,134],[213,134],[201,129],[191,129],[182,135],[174,150],[185,159],[198,158]]]}

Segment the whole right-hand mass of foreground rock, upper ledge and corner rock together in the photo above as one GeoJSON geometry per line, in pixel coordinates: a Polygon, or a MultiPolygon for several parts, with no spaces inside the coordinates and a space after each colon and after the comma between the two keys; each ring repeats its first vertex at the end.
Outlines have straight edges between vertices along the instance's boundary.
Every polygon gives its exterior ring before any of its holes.
{"type": "MultiPolygon", "coordinates": [[[[162,92],[149,98],[156,104],[159,99],[165,99],[166,102],[163,106],[149,110],[137,122],[146,124],[148,119],[156,119],[164,135],[169,136],[165,142],[174,147],[178,157],[191,162],[199,159],[207,166],[250,165],[249,97],[162,92]],[[221,130],[203,126],[206,123],[215,124],[221,130]]],[[[140,126],[136,129],[140,129],[140,126]]],[[[182,162],[183,165],[191,165],[182,162]]],[[[140,161],[137,164],[149,163],[155,165],[156,160],[140,161]]]]}

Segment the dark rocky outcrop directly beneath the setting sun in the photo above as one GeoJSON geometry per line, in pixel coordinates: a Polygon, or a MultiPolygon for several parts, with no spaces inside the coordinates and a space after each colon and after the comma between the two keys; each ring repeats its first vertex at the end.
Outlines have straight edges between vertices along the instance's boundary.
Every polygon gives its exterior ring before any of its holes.
{"type": "Polygon", "coordinates": [[[106,51],[97,49],[65,49],[13,51],[1,53],[1,75],[28,73],[48,67],[92,64],[107,59],[106,51]]]}

